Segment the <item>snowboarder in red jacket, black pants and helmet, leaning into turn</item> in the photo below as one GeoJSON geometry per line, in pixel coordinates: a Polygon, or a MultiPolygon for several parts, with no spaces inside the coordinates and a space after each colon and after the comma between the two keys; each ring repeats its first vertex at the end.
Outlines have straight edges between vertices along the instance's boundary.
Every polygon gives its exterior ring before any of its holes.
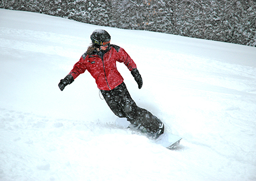
{"type": "Polygon", "coordinates": [[[127,118],[131,123],[130,126],[146,133],[147,136],[153,139],[158,138],[164,133],[164,124],[152,113],[136,105],[127,91],[123,77],[117,70],[116,62],[124,63],[135,78],[138,88],[141,89],[142,77],[135,62],[123,48],[110,44],[110,35],[104,29],[96,29],[92,32],[91,41],[92,44],[88,50],[74,64],[65,79],[60,81],[61,91],[88,70],[116,116],[127,118]]]}

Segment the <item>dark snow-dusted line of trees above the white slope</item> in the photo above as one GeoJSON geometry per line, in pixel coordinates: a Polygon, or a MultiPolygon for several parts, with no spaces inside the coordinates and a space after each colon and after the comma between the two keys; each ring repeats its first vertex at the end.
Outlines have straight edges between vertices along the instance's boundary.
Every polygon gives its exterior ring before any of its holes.
{"type": "Polygon", "coordinates": [[[256,46],[255,0],[2,0],[0,8],[256,46]]]}

